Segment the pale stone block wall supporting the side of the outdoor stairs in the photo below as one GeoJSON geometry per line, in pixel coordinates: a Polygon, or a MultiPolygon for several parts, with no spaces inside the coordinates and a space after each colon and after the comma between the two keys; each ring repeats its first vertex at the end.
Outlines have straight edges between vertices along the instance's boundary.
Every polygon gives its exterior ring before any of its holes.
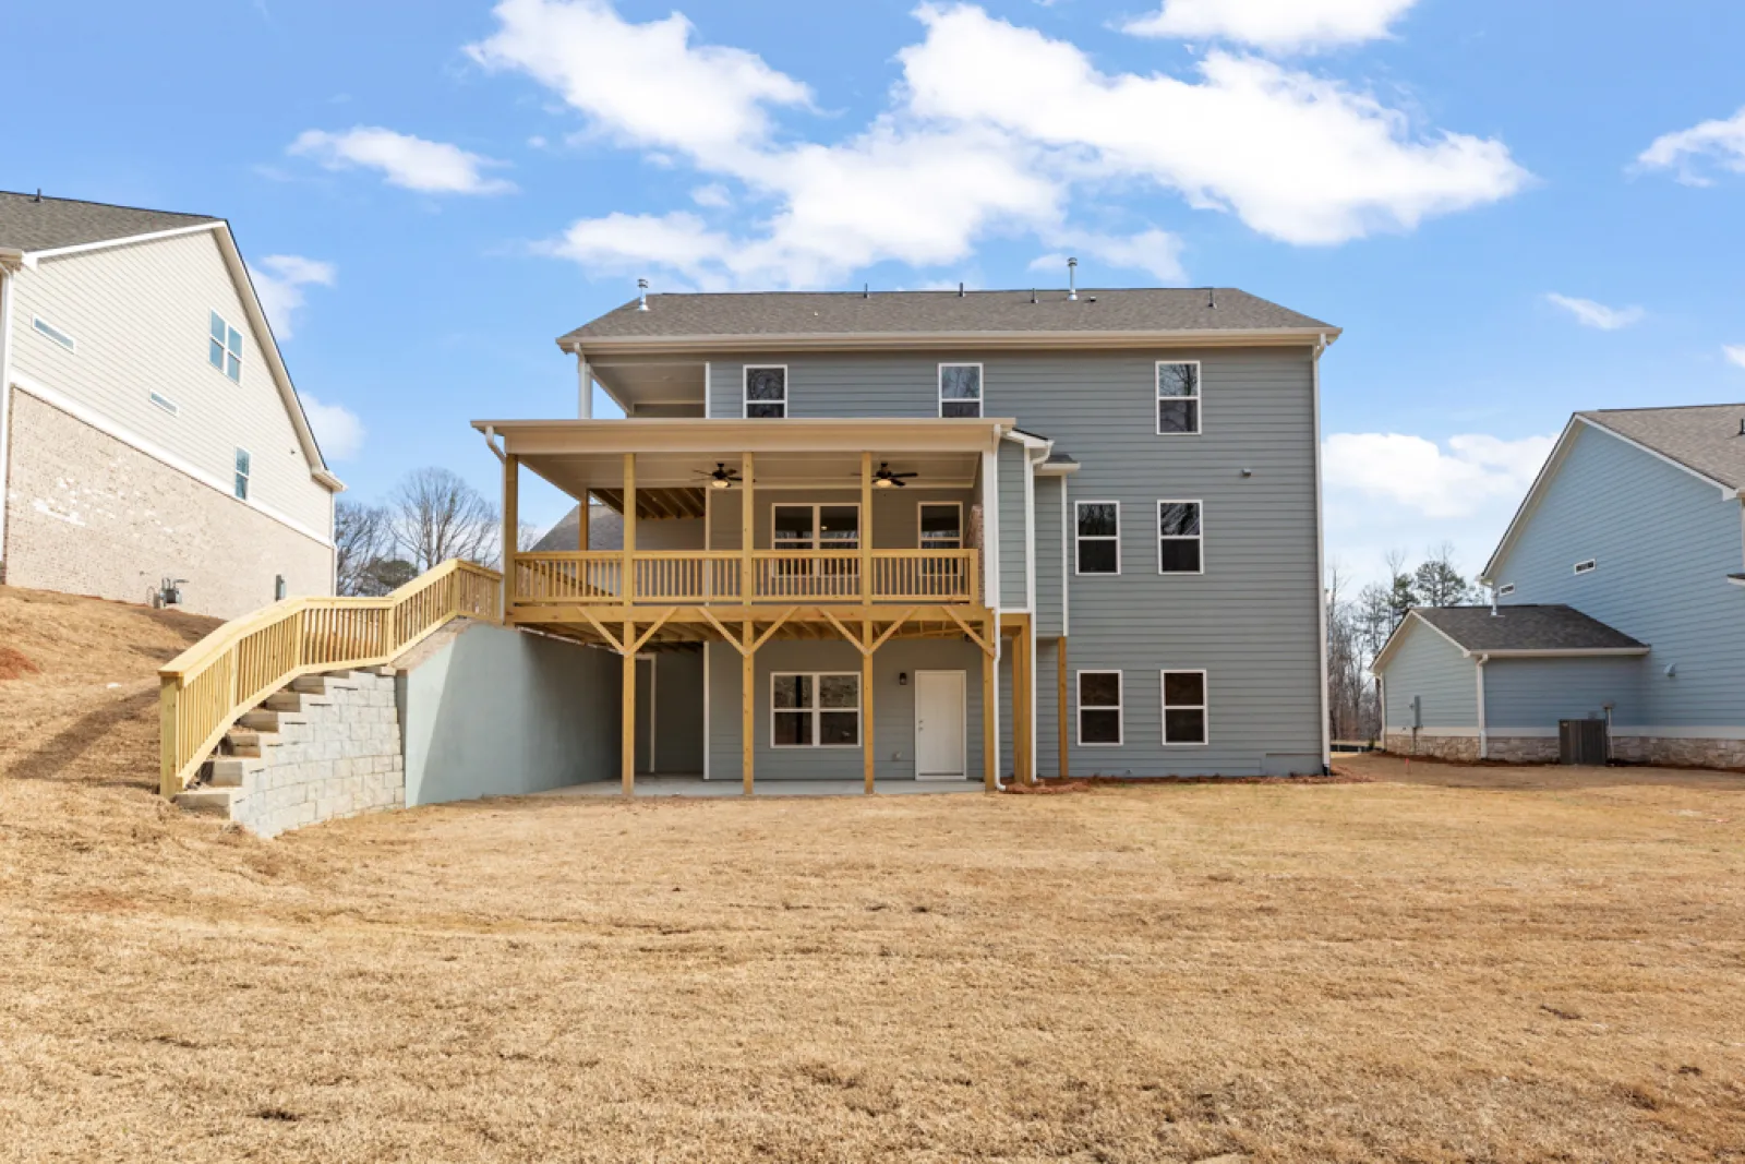
{"type": "Polygon", "coordinates": [[[232,820],[277,836],[407,803],[391,674],[328,675],[326,693],[304,695],[302,705],[279,714],[277,742],[262,749],[258,768],[244,761],[232,820]]]}

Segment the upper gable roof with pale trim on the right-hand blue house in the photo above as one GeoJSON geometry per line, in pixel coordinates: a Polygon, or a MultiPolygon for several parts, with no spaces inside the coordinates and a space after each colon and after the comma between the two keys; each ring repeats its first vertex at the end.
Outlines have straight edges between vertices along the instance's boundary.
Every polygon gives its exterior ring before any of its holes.
{"type": "Polygon", "coordinates": [[[1557,438],[1551,455],[1534,478],[1522,504],[1515,510],[1502,539],[1490,551],[1490,560],[1480,571],[1478,581],[1494,583],[1497,564],[1508,553],[1527,518],[1537,508],[1544,490],[1557,476],[1576,433],[1590,428],[1651,457],[1684,469],[1721,490],[1722,497],[1745,496],[1745,405],[1686,405],[1677,408],[1595,408],[1569,417],[1557,438]]]}

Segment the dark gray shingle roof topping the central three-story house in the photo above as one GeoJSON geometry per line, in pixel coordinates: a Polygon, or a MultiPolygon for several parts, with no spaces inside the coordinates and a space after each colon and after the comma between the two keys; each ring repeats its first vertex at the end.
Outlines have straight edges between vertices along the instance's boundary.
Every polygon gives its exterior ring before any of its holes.
{"type": "Polygon", "coordinates": [[[558,342],[679,335],[879,335],[986,332],[1216,332],[1337,328],[1234,288],[1066,291],[740,291],[649,295],[558,342]],[[1096,302],[1092,302],[1096,300],[1096,302]],[[1216,302],[1216,305],[1213,305],[1216,302]]]}

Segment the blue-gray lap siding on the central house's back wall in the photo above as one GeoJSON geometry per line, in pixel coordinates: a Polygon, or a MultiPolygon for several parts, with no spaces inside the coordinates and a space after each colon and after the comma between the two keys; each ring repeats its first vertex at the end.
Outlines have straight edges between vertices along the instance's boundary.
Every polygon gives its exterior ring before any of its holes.
{"type": "MultiPolygon", "coordinates": [[[[982,365],[984,415],[1016,417],[1024,431],[1052,438],[1056,452],[1080,462],[1068,478],[1068,506],[1120,501],[1122,574],[1068,578],[1066,618],[1073,670],[1126,677],[1126,743],[1073,743],[1073,771],[1262,775],[1281,764],[1297,768],[1302,757],[1317,763],[1321,583],[1310,351],[771,351],[710,361],[710,415],[740,415],[747,363],[787,365],[790,417],[937,415],[939,365],[955,361],[982,365]],[[1157,435],[1159,359],[1201,361],[1201,435],[1157,435]],[[1160,499],[1204,504],[1202,574],[1157,572],[1160,499]],[[1208,672],[1209,745],[1164,747],[1162,670],[1208,672]]],[[[1002,443],[1000,597],[1016,607],[1024,590],[1009,555],[1023,546],[1023,536],[1010,534],[1023,531],[1023,508],[1021,494],[1014,503],[1005,489],[1014,454],[1023,450],[1002,443]]],[[[1052,480],[1040,487],[1059,490],[1052,480]]],[[[717,510],[715,531],[724,534],[717,548],[736,546],[736,517],[731,532],[722,520],[717,510]]],[[[1040,522],[1038,513],[1038,544],[1045,546],[1040,522]]],[[[1038,604],[1044,578],[1038,572],[1038,604]]],[[[979,691],[981,684],[970,686],[979,691]]],[[[1002,721],[1002,738],[1009,724],[1002,721]]],[[[1054,740],[1038,743],[1038,757],[1054,750],[1054,740]]]]}

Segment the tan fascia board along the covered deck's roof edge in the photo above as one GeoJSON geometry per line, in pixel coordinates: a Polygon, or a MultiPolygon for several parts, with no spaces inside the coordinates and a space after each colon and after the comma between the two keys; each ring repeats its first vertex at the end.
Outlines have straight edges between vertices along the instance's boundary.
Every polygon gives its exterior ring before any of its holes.
{"type": "Polygon", "coordinates": [[[1010,419],[949,421],[934,417],[843,421],[708,421],[698,417],[628,417],[623,421],[473,421],[496,431],[504,452],[989,452],[1012,428],[1010,419]]]}

